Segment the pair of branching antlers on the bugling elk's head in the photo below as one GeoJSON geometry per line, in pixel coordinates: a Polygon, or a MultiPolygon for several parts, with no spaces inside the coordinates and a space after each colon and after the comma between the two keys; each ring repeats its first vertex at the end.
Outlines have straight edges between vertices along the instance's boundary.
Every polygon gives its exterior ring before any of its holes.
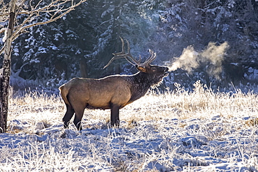
{"type": "Polygon", "coordinates": [[[139,65],[142,67],[149,65],[152,61],[155,60],[156,54],[151,49],[149,49],[149,52],[150,52],[149,58],[147,58],[146,61],[144,61],[144,63],[141,63],[141,61],[142,61],[141,55],[139,55],[139,60],[136,60],[136,58],[134,58],[130,54],[130,45],[129,45],[128,40],[126,40],[126,43],[127,43],[127,53],[126,53],[125,52],[125,43],[121,37],[120,37],[120,39],[122,42],[122,52],[113,53],[114,57],[111,58],[111,60],[109,61],[109,63],[107,63],[107,65],[105,65],[104,69],[107,68],[107,66],[110,65],[110,63],[112,63],[112,61],[114,61],[115,59],[119,59],[119,58],[126,58],[126,60],[129,63],[131,63],[132,65],[139,65]]]}

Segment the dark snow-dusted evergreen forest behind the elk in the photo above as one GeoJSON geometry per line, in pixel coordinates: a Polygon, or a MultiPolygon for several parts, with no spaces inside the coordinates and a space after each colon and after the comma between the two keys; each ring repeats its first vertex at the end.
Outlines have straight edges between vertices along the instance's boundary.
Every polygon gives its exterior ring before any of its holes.
{"type": "Polygon", "coordinates": [[[130,42],[135,57],[146,58],[153,49],[153,64],[158,65],[174,63],[185,49],[204,52],[227,42],[219,62],[198,56],[195,68],[172,71],[162,88],[173,89],[175,82],[191,88],[197,80],[214,88],[257,84],[257,0],[88,0],[56,22],[29,28],[13,42],[11,84],[15,89],[57,90],[73,77],[133,74],[137,70],[124,59],[103,69],[112,52],[121,51],[119,36],[130,42]]]}

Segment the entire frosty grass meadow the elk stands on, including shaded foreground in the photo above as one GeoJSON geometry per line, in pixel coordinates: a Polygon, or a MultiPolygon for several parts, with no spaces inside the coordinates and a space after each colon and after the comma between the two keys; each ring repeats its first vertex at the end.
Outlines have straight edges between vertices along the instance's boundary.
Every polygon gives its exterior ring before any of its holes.
{"type": "Polygon", "coordinates": [[[60,97],[10,98],[0,134],[0,171],[257,171],[258,97],[211,91],[149,93],[121,109],[84,111],[81,132],[64,130],[60,97]]]}

